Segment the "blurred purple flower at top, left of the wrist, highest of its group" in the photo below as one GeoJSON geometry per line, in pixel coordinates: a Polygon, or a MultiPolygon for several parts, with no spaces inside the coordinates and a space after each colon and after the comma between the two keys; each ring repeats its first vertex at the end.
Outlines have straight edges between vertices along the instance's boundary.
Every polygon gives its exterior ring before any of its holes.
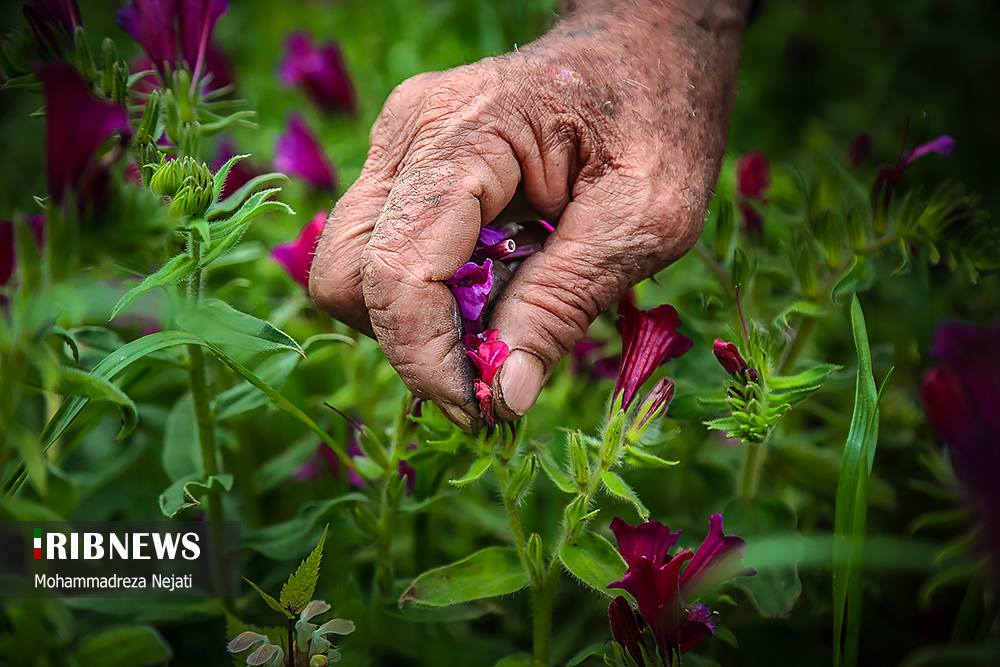
{"type": "Polygon", "coordinates": [[[293,32],[285,41],[278,76],[285,85],[302,88],[324,111],[354,111],[354,87],[334,42],[317,45],[306,33],[293,32]]]}

